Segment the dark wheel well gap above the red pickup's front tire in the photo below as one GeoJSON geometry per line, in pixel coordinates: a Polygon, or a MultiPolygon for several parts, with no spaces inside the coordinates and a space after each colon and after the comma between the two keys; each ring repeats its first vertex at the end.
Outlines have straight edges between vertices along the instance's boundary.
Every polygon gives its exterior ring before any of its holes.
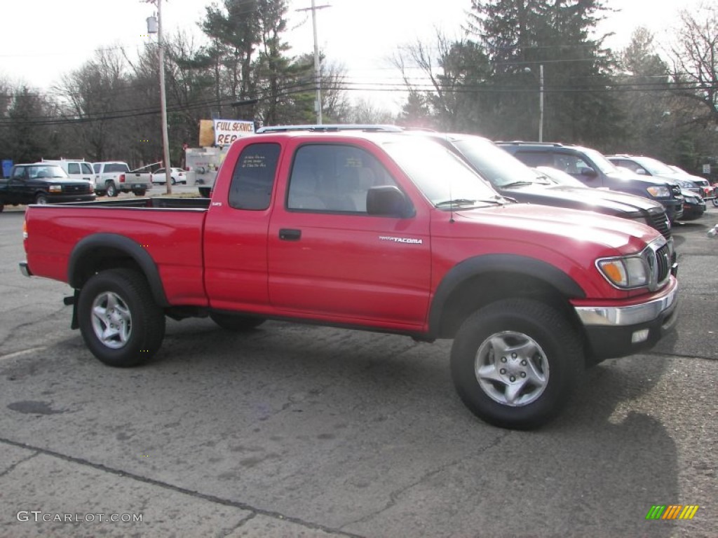
{"type": "Polygon", "coordinates": [[[582,333],[583,329],[569,301],[558,288],[524,273],[490,272],[468,278],[444,301],[437,335],[452,339],[472,313],[489,303],[508,298],[528,298],[552,306],[582,333]]]}

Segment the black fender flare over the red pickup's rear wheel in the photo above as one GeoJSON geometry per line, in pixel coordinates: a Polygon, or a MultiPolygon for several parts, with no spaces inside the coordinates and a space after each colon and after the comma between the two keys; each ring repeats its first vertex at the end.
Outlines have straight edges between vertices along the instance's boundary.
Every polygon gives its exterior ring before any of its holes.
{"type": "Polygon", "coordinates": [[[162,307],[169,306],[167,301],[167,295],[164,293],[164,285],[162,285],[162,278],[159,277],[159,269],[157,263],[154,262],[151,255],[144,250],[144,247],[139,245],[135,240],[125,237],[124,235],[112,234],[112,233],[98,233],[88,235],[78,242],[73,247],[70,253],[70,261],[67,263],[67,282],[75,289],[82,287],[82,281],[80,275],[82,272],[79,270],[78,264],[80,264],[88,253],[98,248],[112,248],[125,253],[135,261],[145,278],[149,282],[149,287],[152,291],[154,301],[162,307]]]}

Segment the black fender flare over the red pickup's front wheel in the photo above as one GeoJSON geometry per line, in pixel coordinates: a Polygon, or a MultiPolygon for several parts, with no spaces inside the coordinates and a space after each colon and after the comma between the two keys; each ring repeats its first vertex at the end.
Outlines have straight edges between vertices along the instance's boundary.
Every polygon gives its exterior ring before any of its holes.
{"type": "Polygon", "coordinates": [[[481,274],[511,272],[538,278],[556,288],[565,297],[583,298],[583,288],[564,271],[550,263],[517,254],[488,254],[467,258],[454,265],[439,283],[429,308],[429,334],[437,337],[444,307],[463,283],[481,274]]]}

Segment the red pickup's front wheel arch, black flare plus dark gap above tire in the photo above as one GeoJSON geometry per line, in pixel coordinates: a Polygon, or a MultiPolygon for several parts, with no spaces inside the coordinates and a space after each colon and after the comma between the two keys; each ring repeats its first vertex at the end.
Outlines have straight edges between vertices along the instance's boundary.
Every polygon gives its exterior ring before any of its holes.
{"type": "Polygon", "coordinates": [[[453,338],[472,312],[509,297],[541,299],[578,323],[568,299],[584,296],[573,278],[542,260],[511,254],[477,256],[454,266],[439,283],[429,309],[429,334],[453,338]]]}

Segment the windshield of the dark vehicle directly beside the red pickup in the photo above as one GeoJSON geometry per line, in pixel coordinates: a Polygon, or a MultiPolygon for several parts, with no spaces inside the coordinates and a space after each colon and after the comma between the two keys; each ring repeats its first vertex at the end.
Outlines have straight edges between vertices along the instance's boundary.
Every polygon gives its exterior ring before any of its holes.
{"type": "Polygon", "coordinates": [[[491,141],[470,136],[451,142],[494,187],[545,183],[545,181],[540,181],[526,164],[491,141]]]}

